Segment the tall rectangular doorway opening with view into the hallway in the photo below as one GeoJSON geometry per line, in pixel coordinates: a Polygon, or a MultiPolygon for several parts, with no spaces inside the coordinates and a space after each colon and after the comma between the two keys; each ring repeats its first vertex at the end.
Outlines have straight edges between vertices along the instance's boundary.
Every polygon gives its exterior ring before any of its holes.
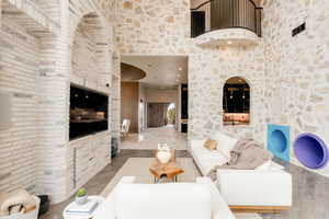
{"type": "Polygon", "coordinates": [[[132,122],[125,149],[188,148],[186,56],[122,56],[121,119],[132,122]]]}

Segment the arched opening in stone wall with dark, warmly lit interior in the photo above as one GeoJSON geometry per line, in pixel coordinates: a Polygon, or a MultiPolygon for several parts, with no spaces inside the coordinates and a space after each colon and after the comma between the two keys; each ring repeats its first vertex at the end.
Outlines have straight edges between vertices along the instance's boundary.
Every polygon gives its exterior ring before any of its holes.
{"type": "Polygon", "coordinates": [[[223,91],[224,125],[250,123],[250,87],[241,77],[229,78],[223,91]]]}

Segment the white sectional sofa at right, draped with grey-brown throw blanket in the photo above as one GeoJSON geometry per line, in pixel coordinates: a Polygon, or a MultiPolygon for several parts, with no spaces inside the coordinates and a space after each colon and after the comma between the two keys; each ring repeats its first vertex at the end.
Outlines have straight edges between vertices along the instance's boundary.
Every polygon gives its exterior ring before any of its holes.
{"type": "MultiPolygon", "coordinates": [[[[216,150],[204,148],[205,140],[192,140],[190,151],[204,176],[229,160],[237,139],[218,132],[216,150]]],[[[292,176],[272,161],[257,170],[217,170],[217,188],[234,210],[280,211],[292,206],[292,176]]]]}

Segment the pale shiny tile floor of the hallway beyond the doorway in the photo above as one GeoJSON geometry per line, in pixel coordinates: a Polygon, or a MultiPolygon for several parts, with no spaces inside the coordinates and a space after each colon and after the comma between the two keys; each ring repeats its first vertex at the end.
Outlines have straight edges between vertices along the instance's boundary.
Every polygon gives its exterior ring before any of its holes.
{"type": "Polygon", "coordinates": [[[164,142],[175,150],[186,150],[188,135],[177,131],[173,126],[148,128],[140,134],[129,134],[122,141],[121,149],[150,150],[164,142]]]}

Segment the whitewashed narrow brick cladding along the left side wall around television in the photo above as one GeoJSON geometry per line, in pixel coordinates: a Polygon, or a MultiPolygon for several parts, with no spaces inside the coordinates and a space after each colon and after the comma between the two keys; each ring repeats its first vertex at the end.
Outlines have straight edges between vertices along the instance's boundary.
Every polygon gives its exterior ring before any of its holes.
{"type": "MultiPolygon", "coordinates": [[[[76,69],[86,72],[73,66],[71,73],[71,60],[77,55],[72,43],[75,38],[81,39],[76,34],[77,26],[82,16],[94,14],[103,27],[100,30],[102,33],[98,34],[95,28],[87,26],[86,36],[91,33],[95,42],[84,41],[79,45],[91,48],[92,56],[89,57],[92,58],[84,61],[93,62],[95,68],[89,68],[87,76],[80,77],[81,72],[78,76],[83,81],[80,85],[105,92],[111,100],[111,73],[117,76],[120,70],[114,69],[111,64],[112,54],[116,50],[110,22],[114,14],[114,3],[109,0],[26,0],[25,3],[32,8],[37,5],[38,12],[52,16],[60,25],[60,31],[56,36],[38,34],[38,37],[33,37],[27,34],[29,25],[20,25],[12,14],[8,18],[2,14],[0,20],[1,92],[13,94],[13,126],[0,131],[0,191],[27,188],[38,194],[49,194],[52,201],[58,203],[77,189],[72,186],[75,147],[99,148],[98,151],[109,154],[104,145],[109,149],[111,129],[92,140],[81,139],[73,146],[69,143],[69,84],[70,74],[77,74],[76,69]],[[106,16],[103,15],[104,12],[106,16]],[[75,37],[76,35],[78,36],[75,37]],[[98,68],[99,66],[102,67],[98,68]]],[[[44,22],[42,16],[33,19],[44,22]]],[[[91,64],[87,66],[90,67],[91,64]]],[[[110,101],[110,113],[111,105],[110,101]]],[[[89,170],[92,174],[88,174],[88,177],[92,177],[111,159],[106,155],[100,161],[84,163],[84,166],[91,166],[89,170]]]]}

